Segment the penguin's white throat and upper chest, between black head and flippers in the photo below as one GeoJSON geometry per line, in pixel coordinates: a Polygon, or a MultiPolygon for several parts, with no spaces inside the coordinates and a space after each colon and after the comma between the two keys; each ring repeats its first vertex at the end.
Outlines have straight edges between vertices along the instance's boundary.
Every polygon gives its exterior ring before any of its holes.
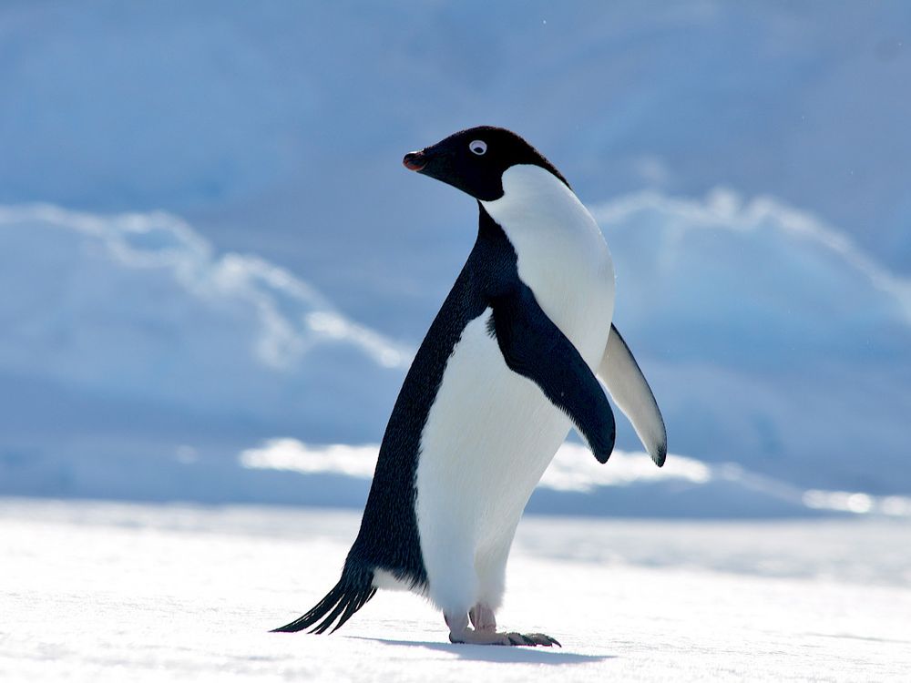
{"type": "MultiPolygon", "coordinates": [[[[595,219],[573,191],[545,168],[507,168],[503,190],[500,199],[481,204],[516,250],[519,278],[570,339],[580,325],[586,325],[582,317],[603,311],[606,339],[614,272],[595,219]]],[[[593,322],[603,327],[603,321],[593,322]]]]}

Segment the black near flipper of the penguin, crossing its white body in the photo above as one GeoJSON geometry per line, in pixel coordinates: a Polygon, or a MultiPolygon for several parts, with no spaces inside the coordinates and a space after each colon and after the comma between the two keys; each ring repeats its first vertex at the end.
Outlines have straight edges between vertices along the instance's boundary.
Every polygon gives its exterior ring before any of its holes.
{"type": "Polygon", "coordinates": [[[614,449],[614,413],[588,364],[526,286],[491,297],[487,330],[507,367],[535,382],[576,425],[599,463],[614,449]]]}

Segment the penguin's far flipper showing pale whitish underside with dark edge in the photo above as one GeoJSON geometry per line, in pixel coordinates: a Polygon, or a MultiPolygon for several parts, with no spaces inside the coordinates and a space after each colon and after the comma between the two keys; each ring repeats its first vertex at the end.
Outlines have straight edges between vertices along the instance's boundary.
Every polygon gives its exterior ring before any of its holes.
{"type": "Polygon", "coordinates": [[[651,459],[660,467],[668,454],[668,434],[664,429],[664,419],[639,363],[613,325],[610,326],[608,344],[598,374],[607,384],[614,403],[630,418],[630,423],[639,434],[642,445],[649,451],[651,459]]]}

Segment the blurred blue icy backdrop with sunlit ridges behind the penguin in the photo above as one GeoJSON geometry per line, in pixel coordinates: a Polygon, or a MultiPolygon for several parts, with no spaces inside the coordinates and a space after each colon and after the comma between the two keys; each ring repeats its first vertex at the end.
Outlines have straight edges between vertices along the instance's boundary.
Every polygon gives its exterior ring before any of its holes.
{"type": "Polygon", "coordinates": [[[400,159],[493,123],[599,219],[672,454],[641,467],[621,418],[623,452],[568,445],[531,510],[907,515],[908,26],[901,2],[0,5],[0,494],[361,505],[476,229],[400,159]]]}

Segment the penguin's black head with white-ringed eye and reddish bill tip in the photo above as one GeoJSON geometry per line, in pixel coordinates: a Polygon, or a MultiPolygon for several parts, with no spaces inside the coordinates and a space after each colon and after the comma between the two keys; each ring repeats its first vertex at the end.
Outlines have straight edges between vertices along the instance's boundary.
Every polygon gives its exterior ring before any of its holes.
{"type": "Polygon", "coordinates": [[[503,197],[503,172],[517,164],[546,168],[569,183],[537,149],[506,128],[478,126],[459,131],[435,145],[409,152],[402,161],[425,176],[442,180],[475,199],[503,197]]]}

